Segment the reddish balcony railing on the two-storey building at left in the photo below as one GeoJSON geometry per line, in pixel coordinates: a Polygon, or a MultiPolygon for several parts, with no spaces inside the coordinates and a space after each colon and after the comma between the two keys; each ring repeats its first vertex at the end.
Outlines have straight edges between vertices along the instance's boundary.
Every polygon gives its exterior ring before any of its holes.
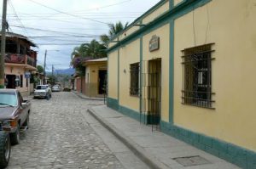
{"type": "Polygon", "coordinates": [[[5,63],[37,66],[36,60],[24,54],[5,54],[5,63]]]}

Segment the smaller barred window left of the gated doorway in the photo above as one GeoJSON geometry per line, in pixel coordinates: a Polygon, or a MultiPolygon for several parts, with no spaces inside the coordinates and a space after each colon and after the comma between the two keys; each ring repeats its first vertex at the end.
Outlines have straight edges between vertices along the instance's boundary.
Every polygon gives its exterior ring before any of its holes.
{"type": "Polygon", "coordinates": [[[130,65],[130,74],[131,74],[131,85],[130,85],[130,95],[139,96],[139,63],[130,65]]]}

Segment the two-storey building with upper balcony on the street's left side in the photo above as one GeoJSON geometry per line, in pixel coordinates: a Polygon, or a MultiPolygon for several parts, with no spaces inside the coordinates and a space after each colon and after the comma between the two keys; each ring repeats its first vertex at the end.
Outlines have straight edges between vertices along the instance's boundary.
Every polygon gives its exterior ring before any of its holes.
{"type": "Polygon", "coordinates": [[[36,45],[26,37],[7,32],[4,59],[5,87],[17,88],[23,95],[33,91],[30,77],[37,70],[37,52],[31,47],[36,45]]]}

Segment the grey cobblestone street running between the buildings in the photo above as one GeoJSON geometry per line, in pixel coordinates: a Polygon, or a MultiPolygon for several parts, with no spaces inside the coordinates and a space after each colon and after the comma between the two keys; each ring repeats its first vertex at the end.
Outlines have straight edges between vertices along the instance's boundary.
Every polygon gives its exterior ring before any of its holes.
{"type": "Polygon", "coordinates": [[[124,168],[86,121],[86,110],[102,103],[73,93],[32,99],[30,128],[12,147],[8,169],[124,168]]]}

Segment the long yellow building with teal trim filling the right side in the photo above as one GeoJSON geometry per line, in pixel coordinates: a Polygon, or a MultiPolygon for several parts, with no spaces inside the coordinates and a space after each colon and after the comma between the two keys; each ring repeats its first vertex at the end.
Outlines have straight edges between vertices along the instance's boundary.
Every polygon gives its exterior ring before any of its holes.
{"type": "Polygon", "coordinates": [[[108,107],[256,168],[255,4],[157,3],[108,44],[108,107]]]}

